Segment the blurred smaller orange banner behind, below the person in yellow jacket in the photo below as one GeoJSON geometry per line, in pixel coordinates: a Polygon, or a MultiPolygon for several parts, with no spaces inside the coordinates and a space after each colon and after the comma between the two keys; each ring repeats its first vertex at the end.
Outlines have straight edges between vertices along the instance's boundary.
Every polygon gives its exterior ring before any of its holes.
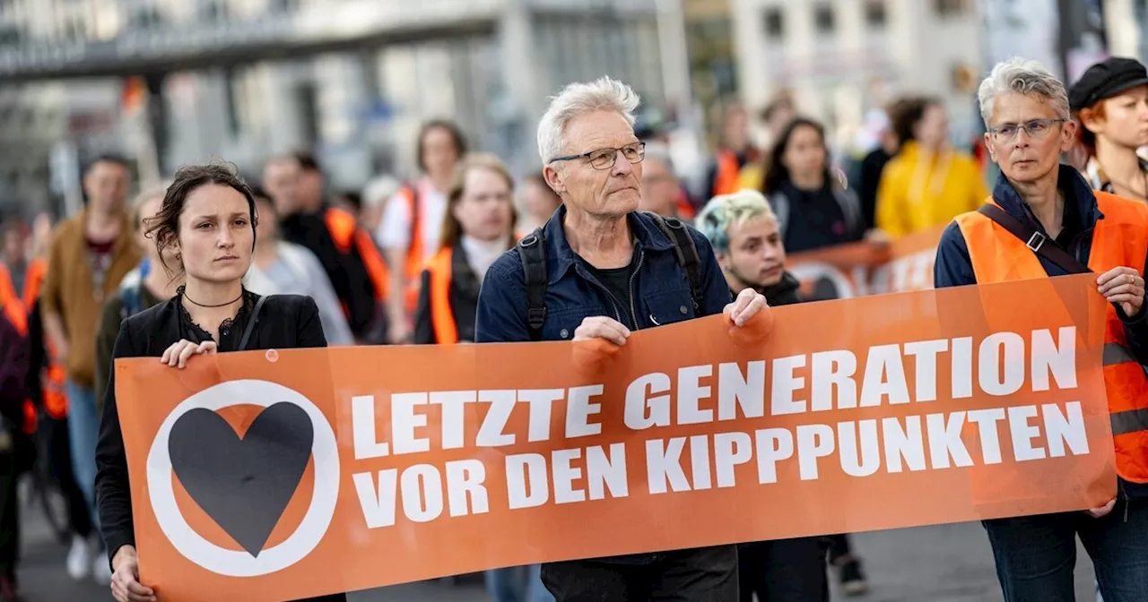
{"type": "Polygon", "coordinates": [[[887,243],[856,242],[789,257],[807,299],[847,299],[933,287],[932,266],[944,227],[887,243]]]}

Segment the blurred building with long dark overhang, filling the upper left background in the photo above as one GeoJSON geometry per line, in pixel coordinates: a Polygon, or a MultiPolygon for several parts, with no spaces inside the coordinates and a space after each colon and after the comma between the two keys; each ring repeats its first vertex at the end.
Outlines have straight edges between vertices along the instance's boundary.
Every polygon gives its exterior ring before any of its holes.
{"type": "Polygon", "coordinates": [[[0,0],[0,196],[51,205],[75,193],[48,186],[54,156],[106,151],[149,180],[312,148],[360,186],[410,174],[433,117],[525,172],[566,83],[610,73],[689,103],[684,34],[660,0],[0,0]]]}

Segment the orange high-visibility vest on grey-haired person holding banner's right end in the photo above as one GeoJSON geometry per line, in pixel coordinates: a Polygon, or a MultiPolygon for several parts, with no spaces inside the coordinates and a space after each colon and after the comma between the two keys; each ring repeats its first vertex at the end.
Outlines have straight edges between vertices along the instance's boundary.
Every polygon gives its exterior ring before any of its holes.
{"type": "MultiPolygon", "coordinates": [[[[1143,274],[1148,256],[1148,205],[1106,193],[1094,194],[1104,219],[1097,220],[1093,230],[1088,268],[1102,274],[1124,266],[1143,274]]],[[[969,248],[978,284],[1048,277],[1025,241],[988,217],[964,213],[957,216],[956,224],[969,248]]],[[[1125,480],[1148,483],[1148,378],[1128,346],[1124,325],[1111,304],[1106,311],[1103,363],[1116,444],[1116,471],[1125,480]]]]}

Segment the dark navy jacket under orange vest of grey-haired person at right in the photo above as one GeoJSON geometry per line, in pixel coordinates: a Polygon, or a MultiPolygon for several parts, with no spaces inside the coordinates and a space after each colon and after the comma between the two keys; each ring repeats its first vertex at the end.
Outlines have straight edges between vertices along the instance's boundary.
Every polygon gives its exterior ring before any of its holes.
{"type": "MultiPolygon", "coordinates": [[[[1093,194],[1092,187],[1088,186],[1088,182],[1075,169],[1061,165],[1057,186],[1064,193],[1065,211],[1075,210],[1078,212],[1077,217],[1079,217],[1081,230],[1071,241],[1068,241],[1068,244],[1061,244],[1063,241],[1057,242],[1052,237],[1045,244],[1060,244],[1069,255],[1081,264],[1087,265],[1092,252],[1093,230],[1096,227],[1096,221],[1104,219],[1104,216],[1096,205],[1096,195],[1093,194]],[[1070,205],[1070,203],[1072,204],[1070,205]]],[[[1014,218],[1027,222],[1037,232],[1047,236],[1048,233],[1040,225],[1040,220],[1032,214],[1032,210],[1029,209],[1029,205],[1025,204],[1021,195],[1013,188],[1011,182],[1003,174],[996,180],[996,187],[993,189],[993,201],[1014,218]]],[[[1061,266],[1049,261],[1044,256],[1040,256],[1040,265],[1049,276],[1063,276],[1068,274],[1061,266]]],[[[933,286],[945,288],[976,283],[977,276],[972,272],[969,245],[964,241],[964,235],[961,234],[961,228],[954,221],[945,229],[937,247],[937,260],[933,264],[933,286]]],[[[1140,363],[1148,365],[1148,303],[1146,303],[1145,308],[1135,318],[1125,315],[1119,306],[1116,308],[1116,314],[1124,322],[1124,331],[1127,335],[1132,353],[1140,363]]],[[[1133,499],[1148,498],[1148,485],[1127,483],[1122,479],[1122,486],[1133,499]]]]}

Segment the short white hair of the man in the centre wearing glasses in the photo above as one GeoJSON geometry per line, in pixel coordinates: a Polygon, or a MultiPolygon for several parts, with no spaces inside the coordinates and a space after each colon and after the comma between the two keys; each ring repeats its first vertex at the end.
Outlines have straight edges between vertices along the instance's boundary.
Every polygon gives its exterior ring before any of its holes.
{"type": "Polygon", "coordinates": [[[603,76],[589,84],[571,84],[550,100],[538,122],[538,155],[543,164],[563,153],[566,126],[572,119],[594,111],[618,111],[634,127],[641,97],[626,84],[603,76]]]}

